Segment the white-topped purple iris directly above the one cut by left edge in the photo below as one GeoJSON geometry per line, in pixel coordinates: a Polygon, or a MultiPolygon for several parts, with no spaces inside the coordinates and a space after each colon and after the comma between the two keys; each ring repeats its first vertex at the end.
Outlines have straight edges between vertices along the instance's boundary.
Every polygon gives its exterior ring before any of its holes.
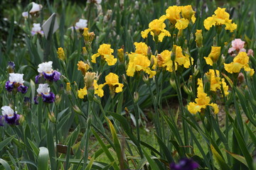
{"type": "Polygon", "coordinates": [[[14,89],[21,94],[26,94],[28,87],[24,86],[23,74],[10,73],[9,81],[6,81],[5,88],[7,91],[13,91],[14,89]]]}

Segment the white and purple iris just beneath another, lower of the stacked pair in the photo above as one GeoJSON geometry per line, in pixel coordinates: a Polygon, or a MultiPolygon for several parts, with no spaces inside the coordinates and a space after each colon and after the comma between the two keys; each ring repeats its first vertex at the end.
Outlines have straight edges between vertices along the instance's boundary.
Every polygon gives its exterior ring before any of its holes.
{"type": "MultiPolygon", "coordinates": [[[[55,95],[50,91],[48,84],[39,84],[36,91],[38,92],[38,96],[42,96],[43,102],[53,103],[55,101],[55,95]]],[[[34,98],[35,104],[38,104],[38,96],[34,98]]]]}

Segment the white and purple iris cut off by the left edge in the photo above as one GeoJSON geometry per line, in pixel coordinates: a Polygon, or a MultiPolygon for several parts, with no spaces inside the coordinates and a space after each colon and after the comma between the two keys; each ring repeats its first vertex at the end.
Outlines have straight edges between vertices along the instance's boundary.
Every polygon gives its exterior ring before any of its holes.
{"type": "Polygon", "coordinates": [[[18,119],[20,115],[14,112],[14,110],[10,106],[1,107],[2,116],[0,116],[0,125],[4,125],[4,120],[9,125],[18,125],[18,119]]]}

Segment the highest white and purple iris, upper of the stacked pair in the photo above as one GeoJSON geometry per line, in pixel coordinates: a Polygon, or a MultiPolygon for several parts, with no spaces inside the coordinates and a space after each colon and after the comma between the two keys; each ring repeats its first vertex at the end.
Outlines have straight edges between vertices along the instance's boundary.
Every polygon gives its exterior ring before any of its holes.
{"type": "Polygon", "coordinates": [[[39,74],[36,76],[36,84],[40,77],[44,77],[46,81],[53,82],[60,79],[60,72],[52,69],[53,62],[43,62],[38,65],[39,74]]]}

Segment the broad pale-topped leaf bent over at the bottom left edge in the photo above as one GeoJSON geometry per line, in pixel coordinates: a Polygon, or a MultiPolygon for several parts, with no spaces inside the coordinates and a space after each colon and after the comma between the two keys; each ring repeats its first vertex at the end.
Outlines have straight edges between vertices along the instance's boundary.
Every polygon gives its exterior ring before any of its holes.
{"type": "Polygon", "coordinates": [[[39,147],[38,154],[38,170],[47,170],[48,169],[48,159],[49,152],[46,147],[39,147]]]}

